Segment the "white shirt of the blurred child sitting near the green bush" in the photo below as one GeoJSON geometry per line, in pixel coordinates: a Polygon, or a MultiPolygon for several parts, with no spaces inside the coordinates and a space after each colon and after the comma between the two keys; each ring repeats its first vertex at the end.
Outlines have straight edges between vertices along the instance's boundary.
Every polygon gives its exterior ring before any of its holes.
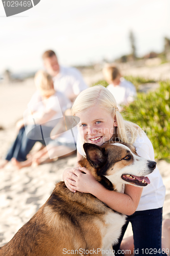
{"type": "Polygon", "coordinates": [[[119,111],[123,109],[121,105],[127,105],[132,102],[136,96],[136,89],[133,83],[127,81],[124,77],[120,78],[118,86],[114,86],[111,83],[107,86],[107,89],[113,94],[119,111]]]}

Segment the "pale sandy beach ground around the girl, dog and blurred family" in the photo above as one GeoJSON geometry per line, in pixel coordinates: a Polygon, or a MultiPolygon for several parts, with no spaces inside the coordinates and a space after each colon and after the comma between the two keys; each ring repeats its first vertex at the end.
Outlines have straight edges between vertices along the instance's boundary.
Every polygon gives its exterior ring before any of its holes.
{"type": "MultiPolygon", "coordinates": [[[[166,65],[165,69],[170,74],[169,65],[166,65]]],[[[147,72],[149,74],[149,71],[147,72]]],[[[160,77],[162,76],[161,72],[162,67],[160,69],[160,77]]],[[[130,74],[130,71],[129,73],[128,71],[124,73],[130,74]]],[[[158,71],[156,75],[159,77],[158,71]]],[[[101,72],[95,74],[95,79],[94,77],[90,79],[90,75],[84,76],[89,85],[93,80],[98,81],[102,77],[101,72]]],[[[170,78],[170,75],[165,77],[170,78]]],[[[4,127],[4,130],[0,130],[0,157],[4,157],[16,136],[15,122],[22,117],[23,111],[26,110],[27,103],[35,92],[35,86],[33,79],[28,79],[21,83],[0,84],[0,90],[0,125],[4,127]]],[[[76,155],[53,163],[43,164],[34,168],[27,167],[21,170],[16,170],[9,163],[0,170],[0,246],[7,243],[17,230],[29,221],[50,196],[55,183],[62,180],[63,170],[66,167],[74,166],[75,162],[76,155]]],[[[165,219],[170,218],[170,164],[164,160],[158,161],[157,164],[166,187],[163,206],[163,218],[165,219]]],[[[126,236],[131,233],[132,230],[128,227],[126,236]]]]}

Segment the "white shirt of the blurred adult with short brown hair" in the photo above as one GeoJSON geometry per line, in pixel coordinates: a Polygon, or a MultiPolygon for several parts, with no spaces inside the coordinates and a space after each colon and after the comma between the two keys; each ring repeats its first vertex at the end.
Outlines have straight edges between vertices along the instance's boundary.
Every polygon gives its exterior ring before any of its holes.
{"type": "Polygon", "coordinates": [[[62,92],[67,98],[72,94],[78,95],[88,88],[81,73],[75,68],[60,66],[60,72],[53,81],[54,89],[62,92]]]}

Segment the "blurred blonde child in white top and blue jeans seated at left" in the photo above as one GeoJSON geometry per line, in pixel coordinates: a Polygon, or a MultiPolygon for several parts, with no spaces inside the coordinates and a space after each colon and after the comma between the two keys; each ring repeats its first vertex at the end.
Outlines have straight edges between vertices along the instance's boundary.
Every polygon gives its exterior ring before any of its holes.
{"type": "MultiPolygon", "coordinates": [[[[35,75],[35,86],[40,95],[40,101],[32,97],[28,104],[25,120],[17,122],[18,135],[11,145],[4,163],[4,167],[11,159],[14,165],[27,163],[27,155],[37,141],[46,145],[45,139],[50,139],[50,133],[57,120],[70,108],[71,102],[61,92],[54,90],[51,75],[45,71],[38,71],[35,75]]],[[[28,165],[26,165],[28,166],[28,165]]]]}

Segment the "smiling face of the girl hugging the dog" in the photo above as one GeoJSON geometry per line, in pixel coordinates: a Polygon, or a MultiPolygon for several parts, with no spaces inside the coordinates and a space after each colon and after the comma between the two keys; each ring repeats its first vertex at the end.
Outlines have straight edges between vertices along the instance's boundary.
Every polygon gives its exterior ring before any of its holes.
{"type": "Polygon", "coordinates": [[[114,133],[116,121],[111,114],[98,105],[91,106],[89,109],[77,113],[80,118],[80,134],[84,137],[84,142],[93,143],[101,146],[104,142],[111,139],[114,133]]]}

